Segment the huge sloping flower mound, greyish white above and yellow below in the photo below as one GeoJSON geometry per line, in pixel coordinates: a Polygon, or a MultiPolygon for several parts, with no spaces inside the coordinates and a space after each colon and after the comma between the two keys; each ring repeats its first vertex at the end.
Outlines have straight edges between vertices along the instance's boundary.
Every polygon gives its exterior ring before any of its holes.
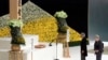
{"type": "MultiPolygon", "coordinates": [[[[8,21],[9,15],[0,17],[0,36],[11,36],[8,21]]],[[[23,34],[37,34],[40,42],[51,42],[58,34],[56,18],[31,2],[23,5],[23,34]]],[[[70,30],[70,42],[81,41],[80,34],[75,29],[68,26],[67,28],[70,30]]]]}

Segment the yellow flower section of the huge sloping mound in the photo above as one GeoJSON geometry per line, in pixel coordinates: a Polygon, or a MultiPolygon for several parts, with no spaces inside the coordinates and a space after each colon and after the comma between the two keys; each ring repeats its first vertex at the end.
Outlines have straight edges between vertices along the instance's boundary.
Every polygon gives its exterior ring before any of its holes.
{"type": "MultiPolygon", "coordinates": [[[[24,24],[22,28],[23,34],[37,34],[40,42],[51,42],[57,38],[57,21],[54,17],[41,17],[24,24]]],[[[70,42],[81,41],[80,34],[68,27],[70,31],[70,42]]],[[[0,29],[0,36],[10,36],[10,28],[0,29]]]]}

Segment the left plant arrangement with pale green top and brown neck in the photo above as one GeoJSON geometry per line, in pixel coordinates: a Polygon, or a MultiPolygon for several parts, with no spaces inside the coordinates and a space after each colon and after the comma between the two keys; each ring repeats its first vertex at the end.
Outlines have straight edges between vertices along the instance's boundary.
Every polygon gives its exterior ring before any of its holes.
{"type": "Polygon", "coordinates": [[[12,50],[21,50],[21,45],[25,45],[25,40],[22,34],[22,27],[23,27],[23,21],[21,19],[11,19],[9,21],[9,27],[11,29],[11,48],[12,50]]]}

